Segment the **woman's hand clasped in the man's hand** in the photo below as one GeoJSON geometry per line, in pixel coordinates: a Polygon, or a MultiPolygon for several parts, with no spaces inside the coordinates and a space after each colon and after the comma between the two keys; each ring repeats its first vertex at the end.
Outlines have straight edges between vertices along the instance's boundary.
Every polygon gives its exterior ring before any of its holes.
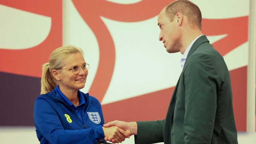
{"type": "Polygon", "coordinates": [[[125,140],[123,134],[125,134],[125,131],[121,128],[118,128],[116,126],[111,126],[108,128],[102,127],[105,137],[109,138],[112,143],[121,143],[125,140]]]}

